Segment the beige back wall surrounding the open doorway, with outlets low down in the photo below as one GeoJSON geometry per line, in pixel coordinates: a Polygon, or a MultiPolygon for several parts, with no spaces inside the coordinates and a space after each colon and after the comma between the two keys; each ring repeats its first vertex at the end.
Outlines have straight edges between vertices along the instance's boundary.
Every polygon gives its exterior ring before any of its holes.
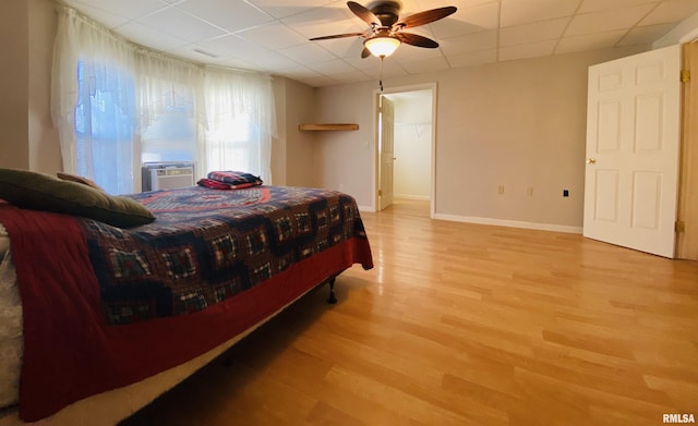
{"type": "MultiPolygon", "coordinates": [[[[384,81],[436,83],[435,214],[441,218],[582,223],[587,70],[641,48],[500,62],[384,81]],[[497,194],[504,185],[505,194],[497,194]],[[533,195],[526,195],[527,187],[533,195]],[[563,197],[563,190],[570,196],[563,197]]],[[[388,59],[389,60],[389,59],[388,59]]],[[[345,187],[375,208],[376,82],[318,89],[318,122],[356,122],[318,148],[320,184],[345,187]]]]}

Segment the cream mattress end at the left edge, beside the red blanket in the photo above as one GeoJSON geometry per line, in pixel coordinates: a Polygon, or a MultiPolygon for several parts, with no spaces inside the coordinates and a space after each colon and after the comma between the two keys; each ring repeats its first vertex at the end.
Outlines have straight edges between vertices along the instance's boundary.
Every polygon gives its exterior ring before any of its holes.
{"type": "Polygon", "coordinates": [[[22,303],[11,258],[10,236],[0,223],[0,409],[20,400],[22,303]]]}

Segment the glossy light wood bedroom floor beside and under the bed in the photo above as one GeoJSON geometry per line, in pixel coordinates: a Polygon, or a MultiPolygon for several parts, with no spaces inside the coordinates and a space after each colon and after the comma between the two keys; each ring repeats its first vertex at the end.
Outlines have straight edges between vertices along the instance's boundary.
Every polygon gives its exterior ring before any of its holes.
{"type": "Polygon", "coordinates": [[[362,214],[375,268],[125,425],[660,425],[698,417],[698,263],[362,214]]]}

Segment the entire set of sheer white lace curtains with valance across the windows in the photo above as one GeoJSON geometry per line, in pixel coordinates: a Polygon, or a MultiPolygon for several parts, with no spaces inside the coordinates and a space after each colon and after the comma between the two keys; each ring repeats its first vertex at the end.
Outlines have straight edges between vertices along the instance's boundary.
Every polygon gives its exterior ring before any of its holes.
{"type": "Polygon", "coordinates": [[[64,7],[52,80],[51,112],[65,172],[91,178],[110,193],[136,192],[141,135],[176,109],[196,127],[200,177],[240,170],[270,183],[276,123],[267,75],[206,70],[137,48],[64,7]]]}

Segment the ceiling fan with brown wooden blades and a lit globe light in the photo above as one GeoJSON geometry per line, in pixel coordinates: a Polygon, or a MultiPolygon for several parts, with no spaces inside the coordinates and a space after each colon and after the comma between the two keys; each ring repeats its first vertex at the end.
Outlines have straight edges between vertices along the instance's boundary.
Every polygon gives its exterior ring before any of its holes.
{"type": "Polygon", "coordinates": [[[363,33],[348,33],[315,37],[311,38],[311,41],[327,40],[330,38],[361,37],[364,39],[361,58],[366,58],[371,54],[378,58],[388,57],[393,54],[393,52],[395,52],[402,42],[430,49],[437,48],[438,42],[431,38],[420,36],[419,34],[404,33],[402,29],[413,28],[416,26],[438,21],[455,13],[457,10],[456,7],[449,5],[419,12],[400,20],[399,12],[401,4],[398,1],[376,1],[370,5],[371,9],[368,9],[354,1],[348,1],[347,5],[354,15],[369,24],[369,29],[363,33]]]}

